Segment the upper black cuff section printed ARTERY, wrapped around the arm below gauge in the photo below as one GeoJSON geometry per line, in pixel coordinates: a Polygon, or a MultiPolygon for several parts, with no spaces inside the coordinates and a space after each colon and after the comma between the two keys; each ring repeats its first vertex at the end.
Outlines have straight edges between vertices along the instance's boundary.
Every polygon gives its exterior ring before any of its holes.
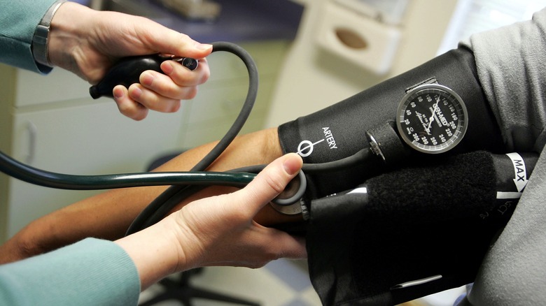
{"type": "MultiPolygon", "coordinates": [[[[304,163],[335,161],[355,154],[368,147],[366,131],[395,119],[405,89],[430,78],[458,93],[468,109],[468,131],[451,152],[502,151],[503,140],[477,80],[474,56],[461,47],[328,108],[282,124],[279,139],[283,152],[299,152],[304,163]]],[[[349,189],[383,169],[384,165],[377,163],[314,175],[310,196],[322,197],[349,189]]]]}

